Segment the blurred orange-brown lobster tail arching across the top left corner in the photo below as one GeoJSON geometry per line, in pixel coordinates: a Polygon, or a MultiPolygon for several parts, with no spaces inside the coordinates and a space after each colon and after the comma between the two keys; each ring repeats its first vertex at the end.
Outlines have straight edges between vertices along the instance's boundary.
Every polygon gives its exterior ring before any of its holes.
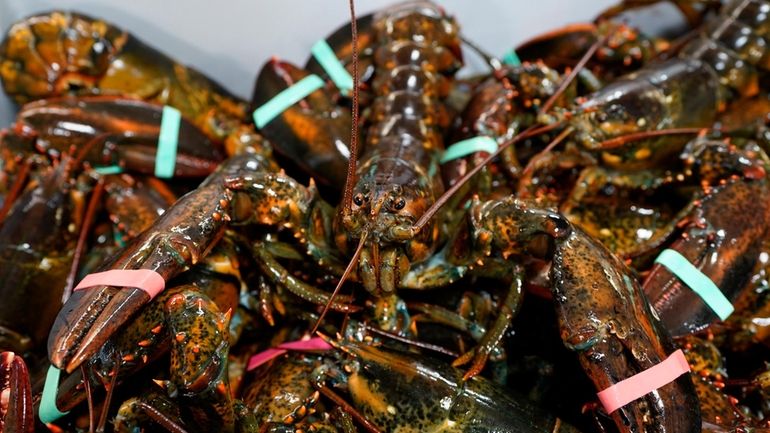
{"type": "Polygon", "coordinates": [[[209,138],[240,130],[246,103],[110,23],[54,11],[14,25],[0,44],[0,78],[18,104],[64,95],[131,96],[171,105],[209,138]]]}

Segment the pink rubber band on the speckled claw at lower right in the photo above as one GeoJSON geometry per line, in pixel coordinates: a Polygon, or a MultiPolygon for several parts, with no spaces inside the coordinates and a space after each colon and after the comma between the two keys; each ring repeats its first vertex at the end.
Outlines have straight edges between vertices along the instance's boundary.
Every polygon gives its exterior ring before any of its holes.
{"type": "Polygon", "coordinates": [[[690,371],[690,364],[682,350],[677,350],[658,365],[622,380],[599,392],[599,401],[604,410],[612,413],[639,397],[673,382],[677,377],[690,371]]]}

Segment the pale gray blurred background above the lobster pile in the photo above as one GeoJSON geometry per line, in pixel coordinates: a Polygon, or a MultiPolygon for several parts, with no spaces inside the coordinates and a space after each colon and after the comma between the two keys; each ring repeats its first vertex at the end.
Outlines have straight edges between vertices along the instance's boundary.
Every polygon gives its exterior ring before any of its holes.
{"type": "MultiPolygon", "coordinates": [[[[358,0],[358,14],[392,4],[358,0]]],[[[591,20],[615,0],[440,0],[464,35],[489,53],[557,26],[591,20]]],[[[271,56],[303,64],[318,39],[349,21],[346,0],[0,0],[0,32],[27,15],[72,9],[102,17],[248,98],[253,80],[271,56]]],[[[470,68],[480,62],[469,55],[470,68]]],[[[0,127],[13,105],[0,96],[0,127]]]]}

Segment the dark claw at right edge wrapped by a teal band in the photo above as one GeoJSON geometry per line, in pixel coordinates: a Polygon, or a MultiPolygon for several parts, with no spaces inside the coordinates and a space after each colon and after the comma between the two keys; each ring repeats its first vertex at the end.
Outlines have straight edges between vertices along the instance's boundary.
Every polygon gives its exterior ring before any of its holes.
{"type": "MultiPolygon", "coordinates": [[[[734,302],[759,258],[767,237],[770,203],[766,179],[739,179],[719,186],[695,207],[685,235],[671,249],[679,252],[734,302]]],[[[717,315],[670,269],[653,266],[644,292],[674,336],[699,331],[717,315]]]]}

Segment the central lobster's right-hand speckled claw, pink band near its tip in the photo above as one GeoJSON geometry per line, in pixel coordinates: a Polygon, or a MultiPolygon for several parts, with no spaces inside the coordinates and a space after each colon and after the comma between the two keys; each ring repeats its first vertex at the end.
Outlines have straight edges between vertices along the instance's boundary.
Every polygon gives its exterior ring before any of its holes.
{"type": "MultiPolygon", "coordinates": [[[[503,253],[526,250],[540,235],[551,239],[547,255],[561,337],[597,391],[663,363],[674,352],[628,268],[564,216],[515,198],[480,203],[472,212],[479,216],[477,227],[492,233],[503,253]]],[[[613,410],[618,429],[699,432],[692,381],[689,375],[677,377],[613,410]]]]}

